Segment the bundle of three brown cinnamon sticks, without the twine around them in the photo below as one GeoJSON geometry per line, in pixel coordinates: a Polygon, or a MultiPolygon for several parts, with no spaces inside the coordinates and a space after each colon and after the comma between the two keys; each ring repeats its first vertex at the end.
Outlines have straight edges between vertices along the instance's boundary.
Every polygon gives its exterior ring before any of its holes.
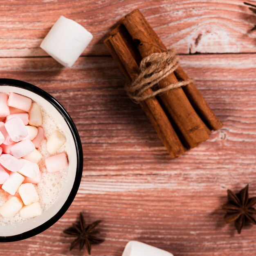
{"type": "MultiPolygon", "coordinates": [[[[104,43],[128,82],[137,77],[142,58],[166,52],[166,47],[136,9],[119,21],[104,43]]],[[[189,79],[182,67],[162,79],[158,86],[189,79]]],[[[152,89],[144,91],[150,94],[152,89]]],[[[194,83],[140,102],[171,157],[183,154],[209,138],[210,130],[222,127],[194,83]]]]}

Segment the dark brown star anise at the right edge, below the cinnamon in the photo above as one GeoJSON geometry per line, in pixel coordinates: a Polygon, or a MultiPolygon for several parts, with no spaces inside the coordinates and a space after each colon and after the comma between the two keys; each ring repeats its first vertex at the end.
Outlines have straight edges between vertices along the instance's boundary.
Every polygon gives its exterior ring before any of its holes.
{"type": "Polygon", "coordinates": [[[256,224],[256,220],[253,215],[256,214],[256,210],[253,208],[256,204],[256,197],[249,198],[248,196],[249,185],[235,194],[231,190],[227,191],[228,203],[223,205],[223,210],[226,211],[224,220],[226,223],[235,222],[235,227],[238,234],[244,224],[252,223],[256,224]]]}

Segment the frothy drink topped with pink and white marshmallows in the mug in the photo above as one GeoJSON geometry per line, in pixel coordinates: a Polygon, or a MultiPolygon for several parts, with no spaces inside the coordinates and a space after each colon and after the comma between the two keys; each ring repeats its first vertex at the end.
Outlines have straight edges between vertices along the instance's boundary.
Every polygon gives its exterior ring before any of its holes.
{"type": "Polygon", "coordinates": [[[0,225],[52,206],[67,180],[68,155],[51,113],[29,97],[0,92],[0,225]]]}

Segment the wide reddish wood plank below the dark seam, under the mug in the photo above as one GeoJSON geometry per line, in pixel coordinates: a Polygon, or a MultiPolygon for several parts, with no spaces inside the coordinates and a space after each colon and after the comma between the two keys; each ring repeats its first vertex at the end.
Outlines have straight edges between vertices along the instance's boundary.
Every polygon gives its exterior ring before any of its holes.
{"type": "Polygon", "coordinates": [[[68,251],[62,234],[83,210],[97,219],[106,242],[95,256],[121,256],[140,240],[175,256],[255,256],[256,227],[239,236],[225,225],[226,190],[250,184],[256,195],[255,54],[180,56],[182,66],[224,127],[171,160],[139,105],[128,99],[112,58],[81,57],[72,69],[52,58],[2,58],[0,77],[34,83],[58,99],[74,119],[84,172],[72,206],[53,227],[0,255],[84,255],[68,251]]]}

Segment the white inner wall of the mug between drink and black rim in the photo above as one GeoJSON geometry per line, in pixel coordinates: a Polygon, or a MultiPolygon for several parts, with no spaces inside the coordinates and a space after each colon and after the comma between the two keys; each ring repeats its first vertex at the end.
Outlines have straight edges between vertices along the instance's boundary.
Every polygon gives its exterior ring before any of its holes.
{"type": "MultiPolygon", "coordinates": [[[[0,85],[1,85],[1,83],[0,83],[0,85]]],[[[31,86],[33,86],[33,85],[31,85],[31,86]]],[[[54,216],[56,216],[56,214],[61,210],[61,208],[67,201],[67,199],[70,196],[70,193],[72,191],[72,188],[74,186],[74,182],[76,180],[77,166],[78,166],[78,162],[77,162],[78,157],[77,157],[77,145],[75,143],[75,140],[74,140],[74,137],[70,130],[70,127],[68,126],[68,123],[64,119],[63,115],[52,105],[52,103],[50,103],[48,100],[44,99],[43,97],[41,97],[40,95],[38,95],[35,92],[31,92],[30,90],[26,90],[24,88],[19,88],[19,87],[15,87],[15,86],[1,85],[0,92],[15,92],[18,94],[22,94],[22,95],[25,95],[25,96],[31,98],[32,100],[36,101],[39,105],[41,105],[49,113],[49,115],[54,117],[54,119],[56,120],[56,123],[62,128],[62,130],[65,134],[65,137],[67,139],[67,148],[69,148],[69,150],[67,150],[67,155],[68,155],[68,159],[69,159],[67,180],[66,180],[66,184],[63,187],[62,191],[59,193],[58,198],[56,198],[56,201],[52,204],[51,207],[49,207],[46,211],[43,211],[43,213],[38,217],[32,218],[30,220],[27,220],[27,221],[24,221],[21,223],[17,223],[15,225],[5,225],[5,226],[0,225],[0,237],[8,238],[10,236],[17,236],[20,234],[24,234],[33,229],[35,230],[37,227],[43,225],[45,222],[51,220],[54,216]]],[[[81,180],[81,177],[80,177],[80,180],[81,180]]],[[[79,180],[79,183],[80,183],[80,180],[79,180]]],[[[79,184],[76,184],[76,186],[78,189],[79,184]]],[[[76,191],[77,191],[77,189],[76,189],[76,191]]],[[[75,191],[75,193],[76,193],[76,191],[75,191]]],[[[75,194],[74,194],[74,196],[75,196],[75,194]]],[[[73,198],[72,198],[72,200],[73,200],[73,198]]],[[[70,204],[71,204],[71,202],[70,202],[70,204]]],[[[66,209],[68,208],[68,206],[66,207],[66,209]]],[[[65,211],[61,214],[61,216],[64,213],[65,213],[65,211]]],[[[61,216],[59,216],[58,218],[60,218],[61,216]]],[[[58,220],[58,218],[56,220],[58,220]]],[[[43,230],[41,230],[41,231],[43,231],[43,230]]],[[[36,233],[38,234],[39,232],[36,231],[36,233]]],[[[31,236],[31,234],[29,236],[31,236]]],[[[24,237],[20,237],[20,239],[24,239],[24,237]]],[[[19,240],[19,239],[16,238],[15,240],[19,240]]],[[[8,239],[7,239],[7,241],[8,241],[8,239]]]]}

